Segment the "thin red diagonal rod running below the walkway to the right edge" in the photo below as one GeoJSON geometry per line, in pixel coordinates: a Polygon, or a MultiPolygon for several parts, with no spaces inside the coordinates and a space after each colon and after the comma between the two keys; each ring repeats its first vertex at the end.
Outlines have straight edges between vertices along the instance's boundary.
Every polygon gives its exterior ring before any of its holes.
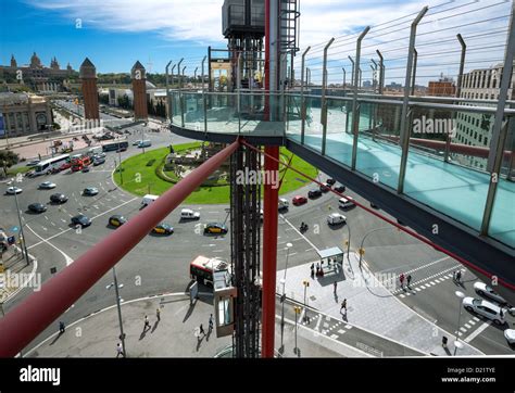
{"type": "MultiPolygon", "coordinates": [[[[250,149],[253,149],[253,150],[255,150],[255,151],[259,151],[261,154],[264,154],[264,155],[265,155],[265,163],[266,163],[266,159],[276,161],[277,164],[281,164],[281,165],[284,165],[284,166],[287,166],[288,168],[290,168],[291,170],[293,170],[293,172],[298,173],[299,175],[305,177],[306,179],[309,179],[309,180],[311,180],[311,181],[313,181],[313,182],[315,182],[315,183],[317,183],[317,185],[319,185],[319,186],[323,185],[321,181],[318,181],[318,180],[316,180],[316,179],[313,179],[312,177],[310,177],[310,176],[303,174],[302,172],[300,172],[300,170],[293,168],[292,166],[280,162],[280,161],[278,160],[278,157],[276,159],[276,157],[273,156],[272,154],[268,154],[266,150],[265,150],[265,152],[262,152],[260,149],[258,149],[258,148],[253,147],[252,144],[248,143],[246,140],[242,140],[241,143],[244,144],[244,145],[247,145],[247,147],[249,147],[250,149]]],[[[346,195],[342,194],[341,192],[338,192],[338,191],[336,191],[336,190],[334,190],[334,189],[330,189],[330,191],[331,191],[334,194],[338,195],[339,198],[347,198],[347,199],[349,199],[349,196],[346,196],[346,195]]],[[[398,223],[391,220],[390,218],[384,216],[382,214],[377,213],[376,211],[372,210],[370,207],[367,207],[367,206],[361,204],[361,203],[357,202],[356,200],[354,200],[354,204],[355,204],[357,207],[361,207],[361,208],[363,208],[364,211],[366,211],[366,212],[368,212],[368,213],[375,215],[376,217],[382,219],[384,221],[387,221],[388,224],[394,226],[394,227],[398,228],[399,230],[402,230],[403,232],[406,232],[407,234],[411,234],[412,237],[414,237],[415,239],[418,239],[418,240],[422,241],[423,243],[426,243],[426,244],[430,245],[430,246],[434,248],[435,250],[438,250],[438,251],[442,252],[443,254],[449,255],[450,257],[452,257],[452,258],[456,259],[457,262],[462,263],[463,265],[468,266],[468,267],[470,267],[472,269],[474,269],[474,270],[476,270],[476,271],[479,271],[480,274],[485,275],[486,277],[489,277],[489,278],[492,278],[492,277],[493,277],[491,272],[489,272],[489,271],[487,271],[487,270],[480,268],[479,266],[476,266],[476,265],[472,264],[472,263],[468,262],[467,259],[462,258],[460,255],[456,255],[456,254],[454,254],[453,252],[451,252],[451,251],[449,251],[449,250],[447,250],[447,249],[443,249],[442,246],[438,245],[437,243],[434,243],[432,241],[430,241],[429,239],[423,237],[422,234],[418,234],[418,233],[415,232],[414,230],[411,230],[411,229],[409,229],[409,228],[405,228],[405,227],[403,227],[402,225],[400,225],[400,224],[398,224],[398,223]]],[[[264,246],[264,245],[263,245],[263,246],[264,246]]],[[[264,254],[264,253],[263,253],[263,254],[264,254]]],[[[264,276],[264,274],[263,274],[263,276],[264,276]]],[[[511,289],[511,290],[515,290],[515,286],[514,286],[514,284],[512,284],[512,283],[510,283],[510,282],[507,282],[507,281],[505,281],[505,280],[503,280],[503,279],[498,278],[498,282],[499,282],[500,284],[502,284],[503,287],[505,287],[505,288],[508,288],[508,289],[511,289]]],[[[275,283],[275,281],[274,281],[274,283],[275,283]]],[[[263,280],[263,292],[264,292],[264,280],[263,280]]],[[[265,294],[263,293],[263,296],[264,296],[264,295],[265,295],[265,294]]],[[[263,315],[264,315],[264,308],[263,308],[263,315]]],[[[263,316],[263,318],[264,318],[264,316],[263,316]]],[[[264,329],[263,329],[263,330],[264,330],[264,329]]]]}

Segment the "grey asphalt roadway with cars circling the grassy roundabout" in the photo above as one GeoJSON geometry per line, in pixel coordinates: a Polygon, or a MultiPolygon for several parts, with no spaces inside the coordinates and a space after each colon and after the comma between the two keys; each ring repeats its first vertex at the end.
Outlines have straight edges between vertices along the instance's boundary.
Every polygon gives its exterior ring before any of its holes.
{"type": "MultiPolygon", "coordinates": [[[[142,129],[145,129],[142,126],[134,127],[129,138],[140,139],[142,129]]],[[[152,149],[187,141],[169,134],[149,132],[149,129],[146,129],[146,139],[152,140],[152,149]]],[[[130,147],[127,152],[123,153],[123,159],[135,153],[137,153],[137,149],[130,147]]],[[[38,271],[41,274],[43,282],[50,278],[51,267],[56,267],[58,271],[63,269],[91,245],[113,231],[108,227],[110,215],[122,214],[130,219],[139,214],[140,198],[116,189],[112,182],[111,175],[115,159],[117,159],[117,154],[110,152],[105,164],[95,167],[90,173],[63,173],[36,179],[24,178],[23,183],[18,186],[24,189],[23,193],[18,195],[22,211],[25,211],[26,206],[34,202],[48,203],[49,195],[54,192],[63,192],[70,198],[68,202],[62,206],[48,205],[48,211],[43,214],[24,214],[27,244],[30,254],[38,258],[38,271]],[[38,190],[37,186],[45,180],[51,180],[58,187],[54,190],[38,190]],[[99,195],[83,196],[80,191],[86,187],[99,188],[99,195]],[[93,224],[81,230],[80,233],[70,226],[70,218],[78,213],[93,218],[93,224]]],[[[324,180],[326,176],[321,177],[324,180]]],[[[291,200],[294,194],[306,194],[309,189],[310,186],[305,186],[288,195],[288,199],[291,200]]],[[[348,191],[348,194],[357,201],[367,203],[353,191],[348,191]]],[[[225,212],[227,205],[183,205],[181,207],[191,207],[201,212],[200,224],[227,219],[225,212]]],[[[17,226],[14,196],[0,195],[0,211],[2,227],[17,226]]],[[[124,300],[185,291],[190,283],[189,263],[199,254],[229,258],[229,236],[205,237],[196,231],[196,225],[199,223],[180,223],[178,215],[179,210],[173,212],[165,219],[175,228],[174,234],[146,237],[117,264],[116,274],[118,283],[124,284],[121,289],[121,296],[124,300]]],[[[289,211],[280,215],[278,269],[286,267],[287,243],[293,244],[289,251],[288,266],[303,265],[316,261],[316,251],[318,250],[335,245],[343,249],[343,241],[349,238],[349,229],[353,249],[357,249],[366,236],[365,259],[372,271],[391,272],[397,277],[400,272],[414,270],[411,272],[413,287],[426,278],[443,277],[459,266],[455,261],[389,227],[379,218],[361,208],[340,211],[338,198],[328,193],[317,200],[310,200],[303,206],[297,207],[290,203],[289,211]],[[348,225],[330,228],[326,223],[326,217],[334,212],[346,215],[348,225]],[[300,233],[298,230],[302,221],[310,226],[305,233],[300,233]],[[370,231],[374,232],[370,233],[370,231]]],[[[467,281],[465,283],[466,293],[473,295],[470,288],[475,277],[470,272],[466,272],[464,279],[467,281]]],[[[70,322],[100,308],[111,306],[115,301],[114,291],[108,289],[112,281],[112,274],[106,274],[65,313],[62,319],[70,322]]],[[[454,295],[455,290],[452,280],[443,280],[427,289],[414,290],[416,294],[413,295],[406,295],[404,292],[392,295],[398,296],[400,301],[406,303],[425,318],[436,321],[437,325],[449,331],[454,331],[460,310],[459,300],[454,295]]],[[[28,289],[22,291],[4,305],[5,310],[18,304],[28,293],[28,289]]],[[[475,321],[472,325],[469,319],[473,317],[466,310],[462,310],[461,326],[466,329],[465,332],[462,332],[463,340],[470,338],[469,343],[487,354],[514,354],[513,348],[507,346],[501,329],[490,325],[485,327],[482,321],[475,321]],[[470,328],[466,328],[465,325],[470,328]],[[476,332],[477,329],[485,330],[476,332]]],[[[511,324],[513,324],[513,319],[511,324]]],[[[51,326],[35,342],[48,337],[55,329],[56,327],[51,326]]]]}

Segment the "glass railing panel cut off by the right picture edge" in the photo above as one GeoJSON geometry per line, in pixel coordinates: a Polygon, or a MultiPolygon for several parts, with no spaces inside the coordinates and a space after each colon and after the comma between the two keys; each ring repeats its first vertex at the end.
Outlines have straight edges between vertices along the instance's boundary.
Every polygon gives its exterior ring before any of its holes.
{"type": "Polygon", "coordinates": [[[493,202],[489,236],[515,248],[515,118],[508,125],[501,176],[493,202]]]}

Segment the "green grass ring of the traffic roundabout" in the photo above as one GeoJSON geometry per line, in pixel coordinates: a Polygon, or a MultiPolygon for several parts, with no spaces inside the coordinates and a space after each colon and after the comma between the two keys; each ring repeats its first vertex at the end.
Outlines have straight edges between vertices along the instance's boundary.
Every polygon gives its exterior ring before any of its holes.
{"type": "MultiPolygon", "coordinates": [[[[181,152],[188,149],[193,149],[200,147],[199,142],[185,143],[179,145],[174,145],[176,152],[181,152]]],[[[292,155],[288,150],[281,148],[281,161],[288,162],[289,157],[292,155]]],[[[114,181],[116,185],[122,187],[124,190],[136,194],[155,194],[161,195],[174,185],[172,182],[165,181],[155,175],[156,168],[162,164],[163,159],[169,153],[168,148],[162,148],[156,150],[147,151],[145,154],[138,154],[131,156],[130,159],[122,163],[122,177],[123,185],[121,181],[121,174],[114,174],[114,181]],[[153,161],[153,162],[152,162],[153,161]],[[148,164],[151,164],[147,166],[148,164]],[[139,181],[137,181],[139,180],[139,181]]],[[[313,178],[317,175],[317,169],[312,165],[307,164],[305,161],[293,156],[291,165],[311,176],[313,178]]],[[[169,174],[169,173],[166,173],[169,174]]],[[[279,177],[285,173],[281,172],[279,177]]],[[[175,178],[173,174],[169,174],[172,178],[175,178]]],[[[302,176],[298,175],[292,170],[286,170],[286,175],[282,181],[282,186],[279,190],[280,194],[285,194],[297,190],[309,183],[309,180],[304,179],[302,176]]],[[[194,192],[192,192],[185,201],[186,203],[192,204],[218,204],[218,203],[228,203],[229,202],[229,187],[228,186],[218,186],[218,187],[200,187],[194,192]]]]}

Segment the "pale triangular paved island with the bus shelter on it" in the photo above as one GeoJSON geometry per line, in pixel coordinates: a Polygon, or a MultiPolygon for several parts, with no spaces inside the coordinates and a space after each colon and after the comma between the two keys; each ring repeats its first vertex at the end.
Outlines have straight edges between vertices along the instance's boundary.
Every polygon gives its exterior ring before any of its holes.
{"type": "MultiPolygon", "coordinates": [[[[397,341],[426,355],[448,356],[454,351],[451,332],[447,332],[429,320],[401,303],[365,268],[360,270],[359,256],[347,254],[343,271],[339,276],[326,275],[323,278],[310,277],[310,265],[296,266],[288,269],[286,295],[303,304],[304,286],[307,280],[307,306],[321,310],[334,318],[366,329],[375,334],[397,341]],[[334,292],[334,282],[338,282],[337,292],[334,292]],[[341,302],[347,299],[348,312],[340,314],[341,302]],[[442,345],[442,337],[449,339],[448,350],[442,345]]],[[[284,277],[284,270],[277,272],[277,278],[284,277]]],[[[277,293],[281,293],[282,284],[277,280],[277,293]]],[[[482,355],[482,353],[467,343],[460,351],[461,356],[482,355]]]]}

